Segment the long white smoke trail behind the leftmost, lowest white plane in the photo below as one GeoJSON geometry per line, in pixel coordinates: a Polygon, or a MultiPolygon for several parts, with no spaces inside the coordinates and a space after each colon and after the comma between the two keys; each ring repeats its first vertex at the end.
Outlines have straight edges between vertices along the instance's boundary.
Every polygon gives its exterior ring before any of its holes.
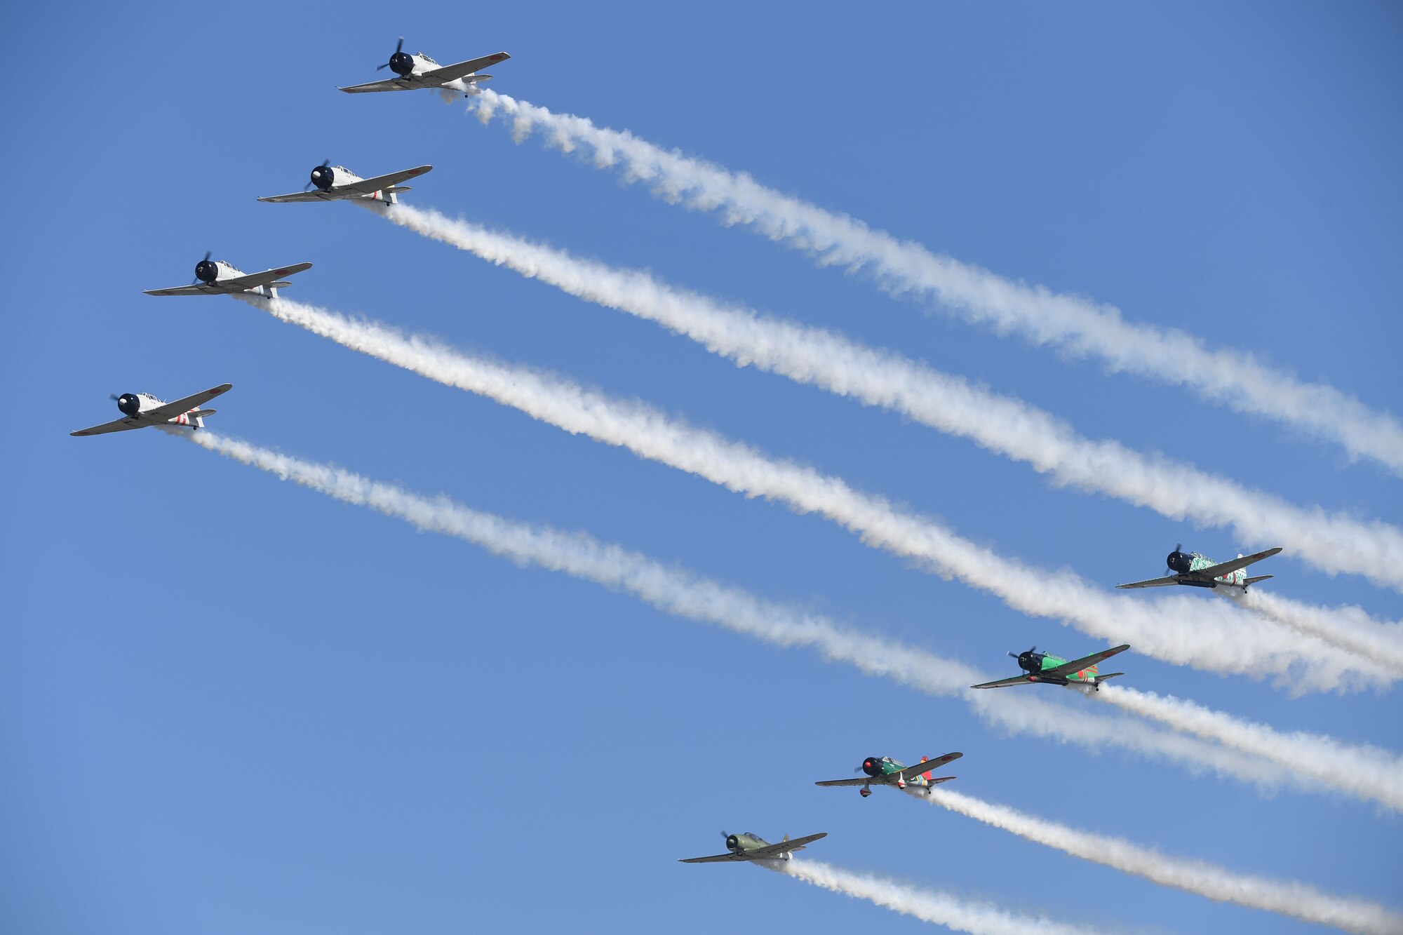
{"type": "Polygon", "coordinates": [[[469,510],[445,496],[421,497],[331,465],[268,451],[208,430],[184,438],[240,463],[267,470],[344,503],[369,507],[427,532],[456,536],[521,564],[536,564],[631,594],[676,616],[714,623],[774,646],[808,646],[829,661],[853,665],[927,695],[962,698],[988,723],[1010,733],[1072,743],[1097,751],[1121,747],[1193,774],[1214,771],[1270,790],[1284,783],[1320,790],[1313,778],[1284,771],[1253,757],[1193,737],[1166,734],[1143,722],[1106,717],[1041,698],[978,692],[967,688],[984,677],[974,668],[895,640],[860,633],[791,605],[760,599],[744,590],[699,577],[685,569],[607,545],[582,532],[512,522],[469,510]]]}

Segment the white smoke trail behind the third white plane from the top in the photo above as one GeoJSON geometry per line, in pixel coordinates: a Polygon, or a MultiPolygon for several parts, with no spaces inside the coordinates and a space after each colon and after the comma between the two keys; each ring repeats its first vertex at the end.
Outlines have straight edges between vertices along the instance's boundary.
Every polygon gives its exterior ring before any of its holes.
{"type": "Polygon", "coordinates": [[[638,402],[610,399],[549,373],[467,355],[422,336],[405,337],[380,323],[351,320],[286,299],[247,300],[348,348],[480,393],[571,434],[626,446],[730,490],[779,500],[798,512],[818,512],[857,532],[871,548],[922,562],[937,574],[998,595],[1017,611],[1134,643],[1167,663],[1251,677],[1275,674],[1295,692],[1386,685],[1397,678],[1395,670],[1317,637],[1282,632],[1228,601],[1197,599],[1201,595],[1127,599],[1090,587],[1068,569],[1049,571],[1006,559],[927,517],[902,512],[881,497],[853,490],[839,477],[773,460],[638,402]]]}

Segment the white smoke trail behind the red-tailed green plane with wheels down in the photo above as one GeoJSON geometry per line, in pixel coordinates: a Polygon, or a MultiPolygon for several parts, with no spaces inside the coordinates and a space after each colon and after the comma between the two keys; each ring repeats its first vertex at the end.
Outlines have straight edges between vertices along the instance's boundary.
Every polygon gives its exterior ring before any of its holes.
{"type": "Polygon", "coordinates": [[[1333,896],[1295,880],[1274,880],[1237,873],[1205,861],[1169,856],[1155,848],[1139,847],[1124,838],[1079,831],[940,786],[932,786],[929,793],[932,803],[951,811],[958,811],[1085,861],[1115,868],[1124,873],[1132,873],[1186,893],[1207,896],[1219,903],[1236,903],[1237,906],[1267,910],[1308,922],[1334,925],[1347,932],[1364,935],[1397,935],[1397,932],[1403,932],[1403,915],[1362,897],[1333,896]]]}

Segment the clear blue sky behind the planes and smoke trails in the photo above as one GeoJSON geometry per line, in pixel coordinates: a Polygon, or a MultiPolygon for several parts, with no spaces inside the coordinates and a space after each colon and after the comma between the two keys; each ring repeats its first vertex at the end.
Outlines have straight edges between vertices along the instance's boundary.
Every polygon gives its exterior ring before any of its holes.
{"type": "MultiPolygon", "coordinates": [[[[1056,490],[369,212],[254,201],[299,190],[325,157],[363,175],[432,163],[407,201],[898,348],[1089,437],[1399,522],[1399,482],[1337,446],[892,300],[539,139],[515,145],[460,101],[335,91],[377,77],[401,34],[445,63],[505,49],[498,91],[1399,413],[1397,4],[7,4],[0,24],[4,931],[920,925],[753,868],[675,862],[717,852],[723,828],[828,831],[812,856],[1072,921],[1312,928],[882,790],[812,785],[864,755],[950,750],[968,795],[1400,903],[1396,814],[1003,736],[958,701],[516,567],[159,432],[67,435],[118,416],[108,393],[229,380],[219,432],[585,529],[991,677],[1009,674],[1007,650],[1100,646],[819,518],[240,302],[140,293],[188,282],[205,250],[246,271],[309,260],[290,298],[648,400],[1049,570],[1111,587],[1160,573],[1180,541],[1218,557],[1282,545],[1263,569],[1274,592],[1399,619],[1399,594],[1292,559],[1309,542],[1239,542],[1056,490]]],[[[1396,692],[1292,699],[1120,661],[1136,688],[1403,748],[1396,692]]]]}

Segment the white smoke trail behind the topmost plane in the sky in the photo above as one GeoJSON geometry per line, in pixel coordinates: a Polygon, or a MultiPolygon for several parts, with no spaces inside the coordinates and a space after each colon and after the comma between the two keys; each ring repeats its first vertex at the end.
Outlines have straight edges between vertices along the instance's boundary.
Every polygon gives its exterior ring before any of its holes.
{"type": "MultiPolygon", "coordinates": [[[[1374,458],[1403,476],[1403,425],[1324,383],[1305,383],[1251,354],[1208,350],[1179,329],[1127,321],[1120,309],[1055,295],[988,270],[897,240],[847,215],[781,195],[745,173],[664,150],[633,133],[595,126],[582,117],[483,91],[470,105],[483,124],[501,115],[516,142],[537,128],[564,153],[588,150],[599,168],[617,167],[624,181],[643,181],[671,202],[721,211],[727,225],[749,225],[774,241],[811,253],[821,265],[867,267],[894,295],[930,298],[965,321],[999,334],[1014,331],[1034,344],[1099,357],[1128,371],[1239,413],[1274,418],[1344,445],[1351,458],[1374,458]]],[[[470,111],[471,112],[471,111],[470,111]]]]}

